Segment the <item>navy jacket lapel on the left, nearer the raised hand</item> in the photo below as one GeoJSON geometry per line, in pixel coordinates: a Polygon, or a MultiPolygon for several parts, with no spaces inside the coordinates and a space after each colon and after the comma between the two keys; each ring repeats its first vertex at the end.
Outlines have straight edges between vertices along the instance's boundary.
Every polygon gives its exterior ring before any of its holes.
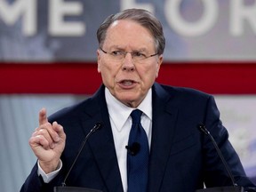
{"type": "Polygon", "coordinates": [[[93,106],[86,112],[90,113],[92,117],[87,119],[86,122],[84,121],[84,127],[88,127],[88,124],[93,126],[97,122],[103,125],[98,132],[95,132],[97,135],[93,135],[88,140],[88,144],[92,149],[92,154],[99,166],[102,180],[105,181],[108,191],[124,191],[108,117],[104,88],[102,85],[100,90],[92,97],[93,106]]]}

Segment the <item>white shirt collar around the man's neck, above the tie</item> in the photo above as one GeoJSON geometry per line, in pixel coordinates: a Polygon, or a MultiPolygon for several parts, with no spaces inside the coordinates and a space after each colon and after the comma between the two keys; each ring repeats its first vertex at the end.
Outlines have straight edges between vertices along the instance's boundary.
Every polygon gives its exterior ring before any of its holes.
{"type": "MultiPolygon", "coordinates": [[[[108,88],[105,88],[105,96],[106,102],[108,106],[108,113],[113,123],[116,125],[117,131],[121,131],[128,117],[132,113],[134,108],[130,108],[125,106],[119,100],[109,92],[108,88]]],[[[148,90],[148,93],[144,100],[138,106],[143,114],[148,116],[148,118],[152,121],[152,90],[151,88],[148,90]]],[[[142,115],[143,116],[143,115],[142,115]]]]}

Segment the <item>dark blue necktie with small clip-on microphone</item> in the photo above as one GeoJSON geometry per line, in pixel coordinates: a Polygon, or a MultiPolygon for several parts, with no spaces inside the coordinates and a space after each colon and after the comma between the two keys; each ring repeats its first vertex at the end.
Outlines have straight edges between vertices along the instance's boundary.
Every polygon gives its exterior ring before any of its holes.
{"type": "Polygon", "coordinates": [[[132,129],[128,141],[127,179],[128,192],[146,192],[148,186],[148,137],[140,124],[142,112],[132,111],[132,129]]]}

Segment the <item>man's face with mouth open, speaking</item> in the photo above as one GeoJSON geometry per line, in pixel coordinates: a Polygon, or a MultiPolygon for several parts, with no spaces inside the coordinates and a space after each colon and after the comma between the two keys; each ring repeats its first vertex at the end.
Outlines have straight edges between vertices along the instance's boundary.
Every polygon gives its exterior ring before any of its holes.
{"type": "Polygon", "coordinates": [[[163,55],[148,57],[156,53],[153,36],[147,28],[132,20],[117,20],[108,28],[106,39],[100,48],[108,52],[104,53],[100,49],[97,51],[98,71],[103,84],[124,105],[138,107],[154,84],[163,60],[163,55]],[[126,53],[124,59],[113,59],[120,51],[134,54],[126,53]],[[140,58],[138,53],[147,58],[132,60],[132,55],[133,58],[140,58]]]}

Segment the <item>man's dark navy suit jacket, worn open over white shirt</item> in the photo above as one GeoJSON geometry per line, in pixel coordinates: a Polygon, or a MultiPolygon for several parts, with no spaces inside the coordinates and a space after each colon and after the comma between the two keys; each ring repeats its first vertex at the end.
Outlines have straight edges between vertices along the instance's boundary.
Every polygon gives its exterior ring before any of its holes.
{"type": "MultiPolygon", "coordinates": [[[[84,136],[94,124],[103,124],[95,132],[68,176],[67,186],[97,188],[104,192],[121,192],[121,176],[116,159],[104,85],[92,98],[60,110],[49,120],[62,124],[67,134],[62,153],[63,167],[49,184],[37,176],[33,168],[20,191],[52,191],[60,186],[75,159],[84,136]]],[[[196,90],[155,83],[152,87],[152,141],[149,162],[148,192],[192,192],[196,188],[232,185],[212,141],[198,131],[206,125],[225,156],[236,183],[253,186],[246,177],[236,151],[228,141],[228,132],[221,124],[219,110],[211,95],[196,90]]]]}

